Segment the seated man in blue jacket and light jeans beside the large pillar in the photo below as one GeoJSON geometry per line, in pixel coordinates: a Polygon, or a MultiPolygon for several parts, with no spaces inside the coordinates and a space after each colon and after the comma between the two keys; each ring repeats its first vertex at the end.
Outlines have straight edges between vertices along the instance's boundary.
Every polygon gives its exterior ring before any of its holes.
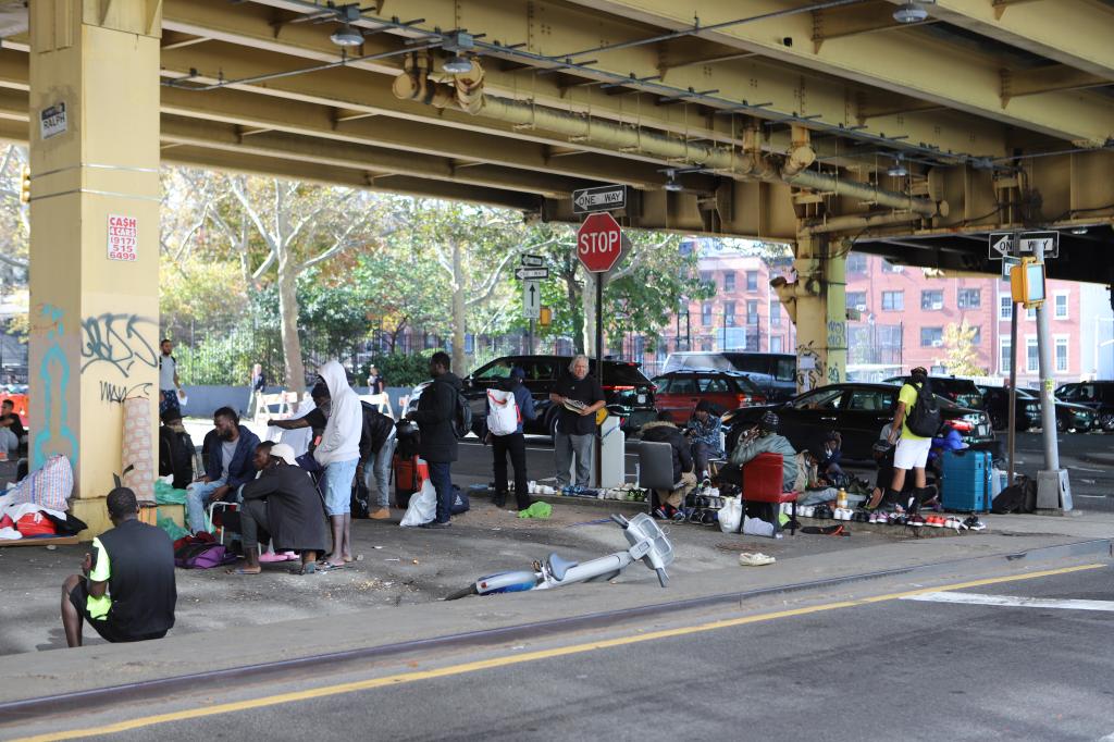
{"type": "Polygon", "coordinates": [[[255,478],[252,457],[260,445],[255,433],[240,424],[231,407],[213,413],[213,426],[202,443],[205,476],[186,488],[186,520],[193,534],[207,530],[205,508],[209,502],[234,501],[240,486],[255,478]]]}

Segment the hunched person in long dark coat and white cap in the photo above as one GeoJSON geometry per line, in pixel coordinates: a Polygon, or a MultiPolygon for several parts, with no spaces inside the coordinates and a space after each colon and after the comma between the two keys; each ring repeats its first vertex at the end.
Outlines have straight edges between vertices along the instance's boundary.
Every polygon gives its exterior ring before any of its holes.
{"type": "Polygon", "coordinates": [[[266,531],[275,549],[302,553],[302,567],[295,574],[315,569],[317,554],[329,540],[325,527],[325,504],[305,469],[294,460],[294,449],[286,443],[265,441],[255,448],[256,479],[244,485],[244,502],[240,511],[240,528],[246,564],[233,570],[240,575],[257,575],[260,566],[260,531],[266,531]]]}

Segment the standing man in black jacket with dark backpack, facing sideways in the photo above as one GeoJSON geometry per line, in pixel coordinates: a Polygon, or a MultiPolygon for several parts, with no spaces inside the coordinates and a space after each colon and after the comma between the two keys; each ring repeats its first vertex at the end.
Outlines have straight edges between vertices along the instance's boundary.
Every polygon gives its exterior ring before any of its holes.
{"type": "Polygon", "coordinates": [[[467,435],[457,430],[458,398],[461,383],[449,369],[452,361],[444,351],[429,359],[429,375],[433,383],[426,388],[418,400],[418,409],[407,418],[418,423],[421,433],[419,453],[429,465],[429,479],[437,490],[437,517],[422,524],[422,528],[448,528],[452,515],[452,462],[457,460],[457,438],[467,435]]]}

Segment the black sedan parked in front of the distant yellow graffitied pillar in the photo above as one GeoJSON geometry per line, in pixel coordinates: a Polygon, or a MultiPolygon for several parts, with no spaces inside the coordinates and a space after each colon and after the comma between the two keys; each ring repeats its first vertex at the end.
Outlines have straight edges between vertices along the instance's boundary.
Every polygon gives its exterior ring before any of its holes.
{"type": "MultiPolygon", "coordinates": [[[[762,404],[732,410],[723,416],[727,446],[733,449],[739,436],[756,423],[766,410],[781,419],[781,433],[798,451],[818,450],[828,431],[839,431],[843,439],[843,456],[869,459],[871,447],[882,428],[893,420],[900,389],[889,383],[843,383],[804,392],[780,404],[762,404]]],[[[994,442],[990,418],[983,410],[960,407],[937,396],[945,421],[964,420],[970,424],[965,440],[973,446],[994,442]]]]}

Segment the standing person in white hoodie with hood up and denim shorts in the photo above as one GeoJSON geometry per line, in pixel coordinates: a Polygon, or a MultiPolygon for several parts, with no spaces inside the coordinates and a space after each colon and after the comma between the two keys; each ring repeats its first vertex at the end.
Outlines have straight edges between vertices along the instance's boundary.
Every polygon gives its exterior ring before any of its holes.
{"type": "Polygon", "coordinates": [[[339,569],[352,560],[352,480],[360,463],[363,412],[360,398],[349,387],[348,375],[340,363],[329,361],[319,373],[332,398],[325,432],[313,451],[313,458],[325,468],[322,478],[325,512],[333,531],[333,550],[323,566],[339,569]]]}

